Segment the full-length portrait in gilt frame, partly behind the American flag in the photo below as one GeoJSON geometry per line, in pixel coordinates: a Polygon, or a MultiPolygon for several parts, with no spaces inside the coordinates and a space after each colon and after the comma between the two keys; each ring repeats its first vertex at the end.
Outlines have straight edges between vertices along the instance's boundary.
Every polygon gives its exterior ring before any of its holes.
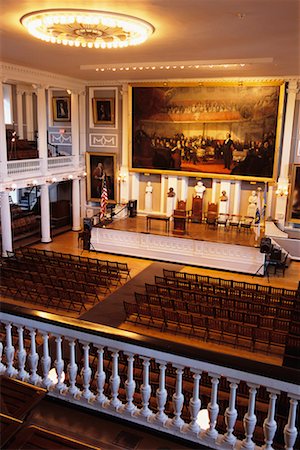
{"type": "Polygon", "coordinates": [[[86,154],[88,201],[100,202],[104,180],[108,202],[116,201],[116,155],[88,152],[86,154]]]}

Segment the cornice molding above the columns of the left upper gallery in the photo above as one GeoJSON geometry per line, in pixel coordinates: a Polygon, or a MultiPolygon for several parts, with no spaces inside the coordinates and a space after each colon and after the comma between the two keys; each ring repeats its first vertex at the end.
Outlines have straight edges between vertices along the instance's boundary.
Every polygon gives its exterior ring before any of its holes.
{"type": "Polygon", "coordinates": [[[85,80],[0,61],[0,78],[6,82],[36,83],[61,89],[83,89],[85,80]]]}

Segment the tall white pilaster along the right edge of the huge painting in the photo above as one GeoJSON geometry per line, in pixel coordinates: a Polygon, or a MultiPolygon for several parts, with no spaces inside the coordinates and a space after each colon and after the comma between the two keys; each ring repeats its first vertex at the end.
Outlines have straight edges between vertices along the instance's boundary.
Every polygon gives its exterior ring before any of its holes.
{"type": "MultiPolygon", "coordinates": [[[[296,97],[298,93],[298,82],[293,80],[289,82],[285,112],[285,122],[283,130],[282,154],[280,164],[280,176],[278,178],[278,188],[288,190],[288,173],[291,155],[291,144],[293,134],[293,122],[295,115],[296,97]]],[[[280,228],[284,228],[286,217],[287,196],[277,196],[275,206],[275,219],[280,228]]]]}

